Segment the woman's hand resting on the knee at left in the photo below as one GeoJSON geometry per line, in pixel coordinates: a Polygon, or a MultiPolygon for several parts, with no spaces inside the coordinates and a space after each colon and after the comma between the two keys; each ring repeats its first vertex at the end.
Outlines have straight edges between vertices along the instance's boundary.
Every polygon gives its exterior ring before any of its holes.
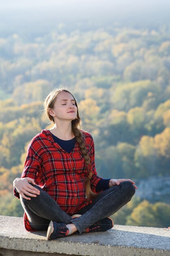
{"type": "Polygon", "coordinates": [[[13,181],[13,186],[16,188],[18,193],[20,193],[20,195],[27,200],[31,200],[31,198],[28,198],[27,196],[36,197],[40,194],[40,191],[32,186],[29,182],[36,185],[35,181],[29,177],[16,178],[13,181]]]}

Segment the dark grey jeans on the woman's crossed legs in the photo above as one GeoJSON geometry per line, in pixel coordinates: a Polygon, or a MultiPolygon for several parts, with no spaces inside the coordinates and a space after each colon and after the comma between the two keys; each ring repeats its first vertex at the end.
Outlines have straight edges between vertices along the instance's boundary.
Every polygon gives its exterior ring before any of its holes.
{"type": "Polygon", "coordinates": [[[31,198],[31,200],[26,200],[20,195],[22,207],[28,216],[31,227],[34,230],[47,230],[50,220],[65,224],[73,223],[78,229],[79,234],[95,222],[116,213],[135,194],[135,188],[131,182],[122,182],[118,186],[113,186],[101,192],[92,203],[75,213],[81,214],[81,217],[72,219],[50,195],[39,186],[33,186],[40,190],[40,195],[31,198]]]}

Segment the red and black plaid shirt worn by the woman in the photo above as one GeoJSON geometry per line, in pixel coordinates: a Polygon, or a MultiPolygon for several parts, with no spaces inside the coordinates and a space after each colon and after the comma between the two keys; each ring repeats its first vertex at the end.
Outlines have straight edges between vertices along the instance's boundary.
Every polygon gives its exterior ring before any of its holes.
{"type": "MultiPolygon", "coordinates": [[[[96,185],[102,178],[97,176],[94,163],[94,141],[92,136],[83,132],[85,147],[91,159],[93,176],[90,180],[92,191],[96,193],[96,185]]],[[[54,142],[50,131],[44,129],[37,134],[28,145],[27,157],[22,178],[30,177],[35,180],[59,204],[61,209],[72,215],[79,209],[91,203],[87,201],[83,179],[88,171],[78,143],[70,153],[54,142]]],[[[19,198],[19,193],[14,191],[19,198]]],[[[24,224],[28,231],[31,227],[26,213],[24,224]]]]}

